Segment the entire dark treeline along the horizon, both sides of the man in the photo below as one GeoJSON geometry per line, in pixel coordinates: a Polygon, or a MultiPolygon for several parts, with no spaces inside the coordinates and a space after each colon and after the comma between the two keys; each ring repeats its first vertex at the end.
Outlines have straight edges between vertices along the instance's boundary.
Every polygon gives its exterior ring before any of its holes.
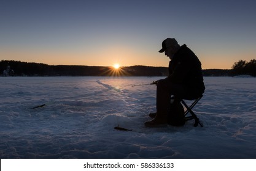
{"type": "MultiPolygon", "coordinates": [[[[239,60],[231,70],[207,69],[204,76],[256,76],[256,60],[239,60]]],[[[83,65],[47,65],[16,60],[1,60],[0,75],[4,76],[168,76],[167,67],[131,66],[115,70],[113,67],[83,65]]]]}

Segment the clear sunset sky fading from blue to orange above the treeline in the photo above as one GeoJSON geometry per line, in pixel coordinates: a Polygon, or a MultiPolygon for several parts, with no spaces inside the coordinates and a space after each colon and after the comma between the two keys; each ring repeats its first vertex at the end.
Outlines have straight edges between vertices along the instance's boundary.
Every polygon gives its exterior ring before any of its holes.
{"type": "Polygon", "coordinates": [[[202,67],[256,59],[256,1],[0,0],[0,60],[168,67],[174,37],[202,67]]]}

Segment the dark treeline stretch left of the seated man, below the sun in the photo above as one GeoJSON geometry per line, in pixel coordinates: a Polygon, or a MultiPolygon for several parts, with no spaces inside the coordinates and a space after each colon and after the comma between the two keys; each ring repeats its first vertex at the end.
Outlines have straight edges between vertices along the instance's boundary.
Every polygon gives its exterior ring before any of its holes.
{"type": "Polygon", "coordinates": [[[8,76],[167,76],[166,67],[97,67],[83,65],[47,65],[34,62],[1,60],[0,75],[8,76]],[[10,73],[10,71],[13,71],[10,73]]]}

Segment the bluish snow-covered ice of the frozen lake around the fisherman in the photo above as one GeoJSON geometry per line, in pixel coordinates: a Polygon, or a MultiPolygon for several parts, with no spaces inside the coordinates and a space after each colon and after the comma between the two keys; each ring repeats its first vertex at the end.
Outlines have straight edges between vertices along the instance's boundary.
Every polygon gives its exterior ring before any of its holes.
{"type": "Polygon", "coordinates": [[[0,157],[256,158],[255,78],[204,78],[203,128],[145,128],[157,79],[1,77],[0,157]]]}

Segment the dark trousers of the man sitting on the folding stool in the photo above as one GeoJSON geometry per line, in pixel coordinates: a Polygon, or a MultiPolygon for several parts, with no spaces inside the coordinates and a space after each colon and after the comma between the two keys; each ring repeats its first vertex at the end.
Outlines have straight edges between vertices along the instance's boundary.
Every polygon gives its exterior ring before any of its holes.
{"type": "Polygon", "coordinates": [[[157,82],[157,115],[168,114],[171,95],[183,97],[185,93],[184,85],[173,84],[169,78],[160,79],[157,82]]]}

